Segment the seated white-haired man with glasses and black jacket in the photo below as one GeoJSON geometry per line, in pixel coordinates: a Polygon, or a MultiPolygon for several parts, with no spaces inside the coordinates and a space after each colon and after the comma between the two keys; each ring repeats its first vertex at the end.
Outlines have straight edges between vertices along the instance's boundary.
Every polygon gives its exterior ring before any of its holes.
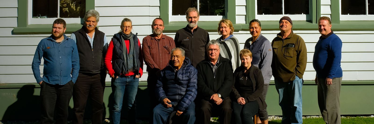
{"type": "Polygon", "coordinates": [[[231,61],[220,57],[220,44],[216,40],[206,45],[208,58],[197,64],[196,98],[198,124],[209,124],[212,111],[220,117],[221,124],[230,124],[231,100],[233,86],[233,69],[231,61]]]}

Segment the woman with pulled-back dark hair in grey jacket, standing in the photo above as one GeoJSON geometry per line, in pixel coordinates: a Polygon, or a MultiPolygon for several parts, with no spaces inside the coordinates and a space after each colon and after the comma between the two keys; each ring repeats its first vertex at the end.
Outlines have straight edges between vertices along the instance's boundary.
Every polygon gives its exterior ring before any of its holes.
{"type": "MultiPolygon", "coordinates": [[[[264,77],[264,92],[262,96],[266,99],[267,89],[269,88],[270,78],[272,78],[272,60],[273,60],[273,51],[270,41],[261,35],[261,22],[257,19],[251,20],[249,22],[249,31],[252,35],[251,38],[248,38],[245,41],[244,48],[252,52],[253,66],[258,67],[262,76],[264,77]]],[[[267,124],[268,123],[268,114],[266,108],[258,110],[257,123],[258,124],[267,124]]]]}

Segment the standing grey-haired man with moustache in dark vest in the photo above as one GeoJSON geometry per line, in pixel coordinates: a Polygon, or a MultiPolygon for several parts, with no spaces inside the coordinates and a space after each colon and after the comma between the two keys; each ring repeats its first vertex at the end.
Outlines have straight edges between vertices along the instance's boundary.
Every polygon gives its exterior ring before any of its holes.
{"type": "Polygon", "coordinates": [[[83,19],[85,23],[82,28],[70,36],[77,44],[81,67],[73,88],[73,124],[83,123],[88,95],[92,104],[92,124],[101,124],[106,77],[104,57],[108,42],[105,34],[96,28],[99,22],[96,10],[88,10],[83,19]]]}

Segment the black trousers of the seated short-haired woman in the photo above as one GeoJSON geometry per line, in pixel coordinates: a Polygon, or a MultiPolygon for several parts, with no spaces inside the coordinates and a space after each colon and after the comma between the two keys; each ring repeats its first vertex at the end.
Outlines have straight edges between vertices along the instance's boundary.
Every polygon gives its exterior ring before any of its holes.
{"type": "MultiPolygon", "coordinates": [[[[258,112],[257,101],[252,101],[240,105],[237,102],[233,102],[233,121],[234,124],[253,124],[252,117],[258,112]]],[[[256,119],[256,118],[255,118],[256,119]]]]}

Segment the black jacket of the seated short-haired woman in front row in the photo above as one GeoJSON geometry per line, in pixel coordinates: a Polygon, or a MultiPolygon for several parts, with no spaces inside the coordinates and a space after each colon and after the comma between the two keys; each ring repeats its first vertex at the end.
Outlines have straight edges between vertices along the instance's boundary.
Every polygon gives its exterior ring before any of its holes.
{"type": "Polygon", "coordinates": [[[244,75],[244,67],[240,66],[234,71],[234,86],[233,86],[233,101],[237,101],[240,97],[245,99],[245,103],[257,101],[260,109],[267,107],[266,102],[262,96],[264,90],[264,78],[261,70],[256,66],[249,67],[248,75],[244,75]],[[251,83],[248,83],[251,82],[251,83]],[[251,84],[251,85],[250,85],[251,84]],[[252,93],[248,93],[248,88],[252,89],[252,93]]]}

